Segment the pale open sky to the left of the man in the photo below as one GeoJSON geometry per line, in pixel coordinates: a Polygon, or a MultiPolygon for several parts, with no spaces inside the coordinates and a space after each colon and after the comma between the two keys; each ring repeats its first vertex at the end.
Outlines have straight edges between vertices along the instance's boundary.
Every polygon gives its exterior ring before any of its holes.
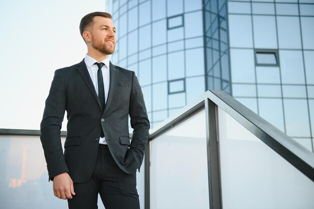
{"type": "Polygon", "coordinates": [[[105,0],[0,1],[0,128],[40,129],[54,71],[85,57],[79,23],[95,11],[105,0]]]}

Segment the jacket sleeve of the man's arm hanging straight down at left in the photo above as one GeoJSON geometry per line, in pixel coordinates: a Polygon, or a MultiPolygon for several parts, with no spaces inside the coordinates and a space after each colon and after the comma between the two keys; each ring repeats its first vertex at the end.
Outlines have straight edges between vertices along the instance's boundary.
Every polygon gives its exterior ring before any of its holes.
{"type": "Polygon", "coordinates": [[[60,136],[65,108],[66,88],[64,78],[61,71],[56,70],[40,125],[40,139],[47,162],[49,180],[53,180],[53,177],[60,173],[69,172],[65,163],[60,136]]]}

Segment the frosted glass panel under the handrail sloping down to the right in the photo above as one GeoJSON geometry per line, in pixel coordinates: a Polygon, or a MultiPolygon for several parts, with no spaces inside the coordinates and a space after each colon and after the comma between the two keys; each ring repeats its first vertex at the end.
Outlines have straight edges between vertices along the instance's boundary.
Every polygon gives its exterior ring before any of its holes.
{"type": "Polygon", "coordinates": [[[218,117],[223,208],[313,208],[314,182],[221,108],[218,117]]]}

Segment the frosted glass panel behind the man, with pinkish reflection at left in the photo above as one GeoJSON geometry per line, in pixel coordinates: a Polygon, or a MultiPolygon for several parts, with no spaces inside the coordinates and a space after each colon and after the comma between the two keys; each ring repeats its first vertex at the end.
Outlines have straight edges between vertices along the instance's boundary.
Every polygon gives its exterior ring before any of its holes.
{"type": "MultiPolygon", "coordinates": [[[[64,141],[62,137],[62,144],[64,141]]],[[[0,135],[0,167],[0,208],[68,208],[67,200],[54,196],[39,136],[0,135]]],[[[143,162],[136,176],[141,208],[144,207],[144,169],[143,162]]],[[[99,195],[98,209],[104,209],[99,195]]]]}

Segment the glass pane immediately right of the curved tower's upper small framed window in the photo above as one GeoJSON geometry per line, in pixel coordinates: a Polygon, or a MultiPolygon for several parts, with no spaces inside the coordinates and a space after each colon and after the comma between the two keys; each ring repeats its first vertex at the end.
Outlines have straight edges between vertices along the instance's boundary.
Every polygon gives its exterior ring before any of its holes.
{"type": "Polygon", "coordinates": [[[203,36],[202,12],[187,13],[184,16],[185,38],[203,36]],[[199,20],[199,21],[195,21],[199,20]]]}

